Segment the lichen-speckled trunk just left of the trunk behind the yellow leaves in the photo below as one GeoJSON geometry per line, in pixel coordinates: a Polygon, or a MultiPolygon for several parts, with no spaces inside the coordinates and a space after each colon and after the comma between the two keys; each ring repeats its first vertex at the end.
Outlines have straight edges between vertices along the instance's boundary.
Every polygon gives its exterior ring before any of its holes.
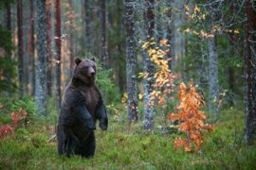
{"type": "Polygon", "coordinates": [[[125,0],[126,7],[126,78],[127,78],[127,113],[128,121],[138,122],[137,112],[137,77],[135,57],[135,31],[133,0],[125,0]]]}

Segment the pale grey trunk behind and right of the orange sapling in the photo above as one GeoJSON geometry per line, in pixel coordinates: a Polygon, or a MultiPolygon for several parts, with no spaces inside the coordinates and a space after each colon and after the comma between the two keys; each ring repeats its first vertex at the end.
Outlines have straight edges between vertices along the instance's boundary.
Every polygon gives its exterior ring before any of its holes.
{"type": "MultiPolygon", "coordinates": [[[[213,0],[210,0],[212,2],[213,0]]],[[[214,18],[215,11],[213,9],[214,4],[210,7],[210,30],[214,27],[214,18]]],[[[218,101],[219,99],[219,78],[218,78],[218,54],[217,54],[217,35],[215,33],[213,38],[209,38],[208,50],[209,50],[209,91],[210,91],[210,102],[209,109],[217,111],[217,102],[214,102],[213,99],[218,101]]],[[[216,114],[218,114],[216,112],[216,114]]]]}

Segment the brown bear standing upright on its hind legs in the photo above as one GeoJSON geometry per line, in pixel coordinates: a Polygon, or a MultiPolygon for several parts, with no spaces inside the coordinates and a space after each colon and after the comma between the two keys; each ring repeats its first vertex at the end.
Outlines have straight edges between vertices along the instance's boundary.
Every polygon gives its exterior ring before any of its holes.
{"type": "Polygon", "coordinates": [[[97,67],[95,57],[75,58],[72,79],[64,91],[58,120],[57,140],[59,154],[71,153],[89,158],[95,152],[96,120],[107,129],[108,120],[101,92],[95,85],[97,67]]]}

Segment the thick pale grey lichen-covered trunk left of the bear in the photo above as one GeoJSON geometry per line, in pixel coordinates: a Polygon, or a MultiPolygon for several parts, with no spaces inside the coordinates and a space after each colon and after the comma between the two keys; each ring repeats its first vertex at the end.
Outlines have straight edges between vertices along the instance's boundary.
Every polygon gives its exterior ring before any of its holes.
{"type": "Polygon", "coordinates": [[[46,116],[46,0],[37,0],[37,65],[36,65],[36,93],[37,110],[44,110],[41,115],[46,116]]]}

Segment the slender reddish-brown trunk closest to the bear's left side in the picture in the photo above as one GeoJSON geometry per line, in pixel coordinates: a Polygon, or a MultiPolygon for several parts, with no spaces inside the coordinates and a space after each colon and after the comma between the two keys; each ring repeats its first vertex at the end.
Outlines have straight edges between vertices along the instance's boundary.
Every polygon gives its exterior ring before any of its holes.
{"type": "Polygon", "coordinates": [[[56,106],[61,108],[61,86],[62,86],[62,75],[61,75],[61,63],[62,63],[62,33],[61,33],[61,0],[56,0],[56,7],[55,7],[55,37],[58,39],[55,40],[55,47],[56,47],[56,106]]]}

